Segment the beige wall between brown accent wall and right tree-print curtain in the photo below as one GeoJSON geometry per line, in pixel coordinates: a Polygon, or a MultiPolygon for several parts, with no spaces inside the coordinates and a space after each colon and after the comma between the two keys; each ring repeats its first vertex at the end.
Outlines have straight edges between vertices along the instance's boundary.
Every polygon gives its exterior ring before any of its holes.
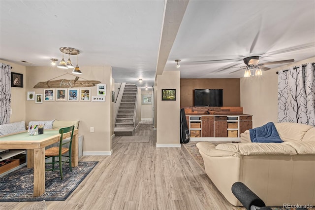
{"type": "Polygon", "coordinates": [[[313,63],[315,57],[262,72],[262,76],[241,78],[241,106],[246,114],[252,114],[253,128],[267,122],[278,121],[278,74],[279,70],[300,64],[313,63]]]}

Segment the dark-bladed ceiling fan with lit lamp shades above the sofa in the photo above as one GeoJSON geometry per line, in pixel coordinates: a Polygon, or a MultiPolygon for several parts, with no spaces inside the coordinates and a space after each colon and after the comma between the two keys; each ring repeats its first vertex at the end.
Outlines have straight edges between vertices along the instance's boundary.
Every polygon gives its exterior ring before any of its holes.
{"type": "MultiPolygon", "coordinates": [[[[259,64],[259,56],[250,56],[250,57],[244,58],[243,61],[244,61],[246,66],[234,67],[234,66],[236,66],[236,65],[234,65],[231,67],[219,69],[219,71],[227,70],[227,69],[231,69],[231,68],[241,68],[238,70],[244,70],[245,69],[244,77],[252,77],[254,75],[261,75],[262,74],[261,70],[270,70],[270,68],[265,67],[266,65],[292,63],[292,62],[294,62],[294,59],[282,60],[282,61],[272,61],[272,62],[265,62],[265,63],[259,64]],[[255,73],[253,72],[253,70],[255,70],[255,73]]],[[[234,73],[238,70],[232,71],[230,73],[234,73]]]]}

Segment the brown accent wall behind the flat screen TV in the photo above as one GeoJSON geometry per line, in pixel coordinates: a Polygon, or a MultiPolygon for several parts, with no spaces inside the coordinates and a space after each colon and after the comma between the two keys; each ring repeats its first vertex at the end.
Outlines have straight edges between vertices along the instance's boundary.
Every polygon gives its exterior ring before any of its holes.
{"type": "Polygon", "coordinates": [[[194,89],[223,89],[223,106],[240,106],[240,79],[181,79],[181,107],[193,106],[194,89]]]}

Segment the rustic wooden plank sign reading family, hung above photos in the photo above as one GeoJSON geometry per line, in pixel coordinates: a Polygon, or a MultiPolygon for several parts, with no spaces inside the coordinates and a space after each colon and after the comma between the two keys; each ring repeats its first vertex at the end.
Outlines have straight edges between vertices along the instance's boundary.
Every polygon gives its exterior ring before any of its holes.
{"type": "Polygon", "coordinates": [[[38,82],[34,88],[76,88],[76,87],[93,87],[95,84],[100,83],[96,80],[79,80],[79,77],[75,79],[58,79],[48,80],[46,82],[38,82]]]}

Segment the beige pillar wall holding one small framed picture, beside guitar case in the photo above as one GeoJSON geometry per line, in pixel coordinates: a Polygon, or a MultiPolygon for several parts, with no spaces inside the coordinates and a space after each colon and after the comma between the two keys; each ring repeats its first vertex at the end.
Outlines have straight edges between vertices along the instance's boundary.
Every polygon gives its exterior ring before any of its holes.
{"type": "Polygon", "coordinates": [[[180,145],[180,71],[163,71],[157,83],[157,147],[180,145]],[[162,101],[162,89],[176,89],[176,101],[162,101]],[[168,144],[168,145],[167,145],[168,144]]]}

